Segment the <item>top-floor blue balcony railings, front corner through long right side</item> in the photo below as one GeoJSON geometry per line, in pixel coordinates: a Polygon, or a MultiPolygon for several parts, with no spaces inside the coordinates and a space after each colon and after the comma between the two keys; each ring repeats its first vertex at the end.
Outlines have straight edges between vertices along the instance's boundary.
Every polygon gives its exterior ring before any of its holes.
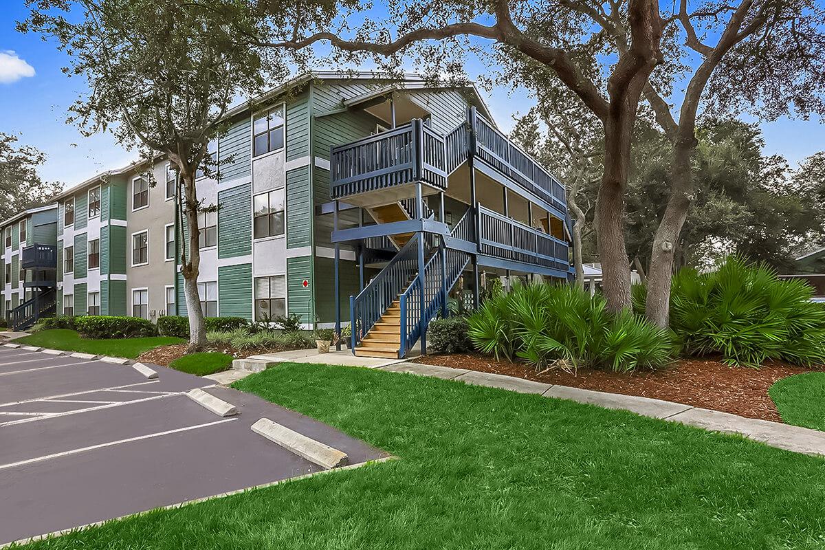
{"type": "Polygon", "coordinates": [[[471,147],[480,161],[479,169],[487,167],[488,175],[506,179],[554,208],[566,210],[561,182],[474,108],[468,110],[468,123],[458,125],[446,136],[416,119],[382,134],[333,147],[330,195],[364,206],[370,204],[369,195],[377,191],[383,192],[384,200],[414,196],[412,184],[417,181],[425,184],[425,195],[446,190],[447,177],[467,161],[471,147]]]}

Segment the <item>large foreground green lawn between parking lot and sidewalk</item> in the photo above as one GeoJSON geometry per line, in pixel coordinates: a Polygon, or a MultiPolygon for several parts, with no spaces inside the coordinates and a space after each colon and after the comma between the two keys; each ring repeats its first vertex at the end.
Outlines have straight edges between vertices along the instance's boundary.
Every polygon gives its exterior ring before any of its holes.
{"type": "Polygon", "coordinates": [[[398,455],[31,548],[823,548],[825,460],[626,411],[278,364],[235,386],[398,455]]]}

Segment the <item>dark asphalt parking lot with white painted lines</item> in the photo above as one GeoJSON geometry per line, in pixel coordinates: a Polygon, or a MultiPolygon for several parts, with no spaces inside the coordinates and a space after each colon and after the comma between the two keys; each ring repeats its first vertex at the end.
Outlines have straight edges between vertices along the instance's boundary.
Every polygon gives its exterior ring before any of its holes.
{"type": "MultiPolygon", "coordinates": [[[[321,422],[210,380],[0,347],[0,544],[324,468],[251,430],[268,418],[339,449],[386,453],[321,422]],[[193,388],[237,407],[219,416],[193,388]]],[[[337,475],[347,475],[342,472],[337,475]]]]}

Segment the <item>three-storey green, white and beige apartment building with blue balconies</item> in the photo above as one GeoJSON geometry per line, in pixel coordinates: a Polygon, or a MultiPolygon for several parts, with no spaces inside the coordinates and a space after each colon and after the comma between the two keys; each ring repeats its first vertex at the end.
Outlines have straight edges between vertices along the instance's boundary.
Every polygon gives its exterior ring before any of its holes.
{"type": "MultiPolygon", "coordinates": [[[[210,143],[218,177],[196,181],[199,199],[217,207],[199,223],[207,316],[352,322],[353,347],[398,356],[457,284],[477,300],[484,272],[568,277],[563,186],[496,128],[474,87],[314,73],[227,120],[227,134],[210,143]],[[427,289],[414,298],[418,286],[427,289]],[[378,287],[380,299],[367,298],[378,287]],[[410,330],[394,321],[401,301],[403,314],[417,317],[405,321],[410,330]]],[[[60,194],[43,211],[56,218],[54,310],[186,315],[178,192],[159,158],[60,194]]],[[[42,213],[21,216],[34,214],[42,213]]],[[[0,227],[12,228],[2,262],[12,272],[21,219],[0,227]]],[[[7,317],[25,291],[7,280],[7,317]]]]}

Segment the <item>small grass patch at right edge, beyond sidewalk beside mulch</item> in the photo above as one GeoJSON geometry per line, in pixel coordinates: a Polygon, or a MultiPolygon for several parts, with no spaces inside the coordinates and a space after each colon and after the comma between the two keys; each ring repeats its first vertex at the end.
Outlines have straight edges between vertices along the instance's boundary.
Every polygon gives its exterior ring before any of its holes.
{"type": "Polygon", "coordinates": [[[788,424],[825,431],[825,373],[794,374],[768,390],[788,424]]]}

